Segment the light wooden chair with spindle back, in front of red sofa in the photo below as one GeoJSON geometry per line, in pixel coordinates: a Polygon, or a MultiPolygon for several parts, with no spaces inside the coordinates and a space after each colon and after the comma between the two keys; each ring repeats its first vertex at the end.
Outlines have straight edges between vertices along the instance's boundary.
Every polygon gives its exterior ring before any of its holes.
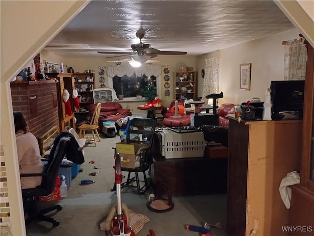
{"type": "Polygon", "coordinates": [[[94,110],[92,119],[90,121],[90,124],[83,124],[83,125],[80,125],[78,127],[80,138],[86,138],[88,140],[89,138],[93,137],[95,147],[97,146],[97,144],[96,144],[96,135],[95,134],[97,134],[97,137],[98,137],[98,140],[99,140],[98,142],[101,141],[99,133],[97,131],[97,129],[98,129],[98,118],[99,118],[101,106],[102,106],[101,103],[97,104],[96,109],[94,110]],[[86,131],[91,131],[92,136],[86,135],[86,133],[85,133],[86,131]]]}

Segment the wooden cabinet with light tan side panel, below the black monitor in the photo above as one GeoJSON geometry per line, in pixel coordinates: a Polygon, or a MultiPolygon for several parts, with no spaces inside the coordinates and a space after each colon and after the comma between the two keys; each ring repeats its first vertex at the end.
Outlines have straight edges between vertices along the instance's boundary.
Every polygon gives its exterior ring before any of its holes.
{"type": "Polygon", "coordinates": [[[230,236],[287,236],[279,186],[300,169],[302,120],[238,122],[228,115],[227,231],[230,236]]]}

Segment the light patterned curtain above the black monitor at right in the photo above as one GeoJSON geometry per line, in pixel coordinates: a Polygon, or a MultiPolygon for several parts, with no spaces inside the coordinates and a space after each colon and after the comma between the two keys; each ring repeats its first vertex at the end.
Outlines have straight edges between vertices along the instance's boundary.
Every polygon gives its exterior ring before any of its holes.
{"type": "Polygon", "coordinates": [[[284,80],[304,80],[306,46],[304,38],[284,41],[284,80]]]}

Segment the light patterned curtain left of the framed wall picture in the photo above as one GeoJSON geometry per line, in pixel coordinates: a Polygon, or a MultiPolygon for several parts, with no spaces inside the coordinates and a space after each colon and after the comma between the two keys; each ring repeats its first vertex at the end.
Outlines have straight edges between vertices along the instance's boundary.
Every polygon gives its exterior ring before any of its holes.
{"type": "Polygon", "coordinates": [[[208,104],[206,95],[218,93],[219,90],[219,57],[205,59],[205,76],[203,84],[202,98],[205,105],[208,104]]]}

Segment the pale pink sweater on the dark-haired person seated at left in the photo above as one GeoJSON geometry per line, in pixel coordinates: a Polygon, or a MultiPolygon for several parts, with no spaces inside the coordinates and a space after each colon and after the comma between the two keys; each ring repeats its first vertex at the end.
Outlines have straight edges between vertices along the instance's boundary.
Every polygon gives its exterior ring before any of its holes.
{"type": "MultiPolygon", "coordinates": [[[[36,137],[27,132],[16,135],[16,145],[19,158],[20,174],[41,173],[44,170],[44,164],[40,160],[39,145],[36,137]]],[[[42,177],[22,177],[21,187],[33,188],[41,184],[42,177]]]]}

